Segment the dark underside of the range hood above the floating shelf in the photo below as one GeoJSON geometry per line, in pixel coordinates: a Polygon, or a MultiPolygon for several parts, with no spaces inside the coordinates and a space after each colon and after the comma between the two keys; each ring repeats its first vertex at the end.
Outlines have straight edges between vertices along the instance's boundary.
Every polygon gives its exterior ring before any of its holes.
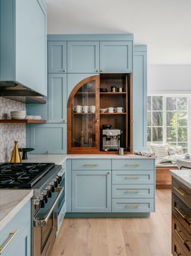
{"type": "Polygon", "coordinates": [[[0,81],[0,97],[44,96],[15,81],[0,81]]]}

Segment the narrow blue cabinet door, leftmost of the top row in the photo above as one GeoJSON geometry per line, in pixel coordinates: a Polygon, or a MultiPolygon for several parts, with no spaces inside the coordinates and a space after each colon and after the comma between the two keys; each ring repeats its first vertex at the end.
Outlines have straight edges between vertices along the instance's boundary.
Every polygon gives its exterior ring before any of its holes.
{"type": "Polygon", "coordinates": [[[67,72],[67,51],[66,42],[48,42],[48,73],[67,72]]]}

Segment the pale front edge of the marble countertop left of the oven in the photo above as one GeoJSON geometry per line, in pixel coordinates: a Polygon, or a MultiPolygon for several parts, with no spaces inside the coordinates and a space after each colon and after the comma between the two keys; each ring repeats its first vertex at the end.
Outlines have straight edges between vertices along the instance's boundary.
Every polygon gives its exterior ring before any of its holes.
{"type": "Polygon", "coordinates": [[[14,216],[22,209],[22,207],[33,197],[33,190],[15,206],[13,209],[0,221],[0,231],[14,218],[14,216]]]}

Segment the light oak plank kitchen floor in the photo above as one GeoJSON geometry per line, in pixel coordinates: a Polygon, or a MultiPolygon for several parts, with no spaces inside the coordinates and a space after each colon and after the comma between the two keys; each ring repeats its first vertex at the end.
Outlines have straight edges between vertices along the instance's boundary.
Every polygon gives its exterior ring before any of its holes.
{"type": "Polygon", "coordinates": [[[51,256],[171,255],[171,189],[150,218],[64,219],[51,256]]]}

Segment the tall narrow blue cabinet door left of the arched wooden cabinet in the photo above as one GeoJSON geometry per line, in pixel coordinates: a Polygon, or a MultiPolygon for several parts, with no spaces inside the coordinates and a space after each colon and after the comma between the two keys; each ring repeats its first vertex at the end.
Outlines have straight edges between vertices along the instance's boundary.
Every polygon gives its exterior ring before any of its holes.
{"type": "Polygon", "coordinates": [[[48,75],[48,122],[66,123],[67,74],[48,75]]]}

